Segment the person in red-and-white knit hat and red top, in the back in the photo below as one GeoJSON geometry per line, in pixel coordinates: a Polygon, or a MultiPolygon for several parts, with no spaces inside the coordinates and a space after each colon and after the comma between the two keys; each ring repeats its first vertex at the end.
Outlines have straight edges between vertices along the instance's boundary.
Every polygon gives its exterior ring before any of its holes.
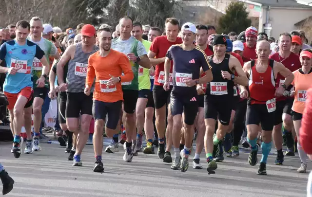
{"type": "Polygon", "coordinates": [[[246,42],[244,43],[243,61],[244,63],[249,62],[257,58],[255,53],[255,46],[258,36],[258,31],[254,27],[248,27],[245,31],[246,42]]]}

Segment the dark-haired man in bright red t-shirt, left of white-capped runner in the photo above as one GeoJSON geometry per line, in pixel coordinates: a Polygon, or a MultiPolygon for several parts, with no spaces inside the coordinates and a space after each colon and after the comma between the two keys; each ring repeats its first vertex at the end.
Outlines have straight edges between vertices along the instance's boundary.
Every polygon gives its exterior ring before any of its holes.
{"type": "MultiPolygon", "coordinates": [[[[181,44],[182,39],[177,37],[179,33],[179,21],[176,18],[167,18],[165,22],[166,36],[159,36],[153,40],[148,57],[151,64],[156,66],[155,80],[153,87],[153,98],[155,102],[155,115],[156,115],[156,130],[158,133],[158,158],[164,162],[172,162],[171,158],[171,145],[172,145],[172,126],[173,117],[171,115],[170,103],[170,90],[164,90],[163,84],[165,83],[164,77],[164,62],[168,49],[175,44],[181,44]],[[168,105],[168,125],[166,127],[166,104],[168,105]],[[166,131],[166,152],[164,134],[166,131]]],[[[172,75],[172,69],[170,70],[172,75]]],[[[169,79],[172,80],[172,77],[169,79]]],[[[172,82],[172,81],[171,81],[172,82]]]]}

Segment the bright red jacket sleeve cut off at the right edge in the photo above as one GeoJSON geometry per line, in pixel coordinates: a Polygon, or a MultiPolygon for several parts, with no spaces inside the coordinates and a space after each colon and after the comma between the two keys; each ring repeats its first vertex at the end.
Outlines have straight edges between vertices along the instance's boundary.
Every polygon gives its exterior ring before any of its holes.
{"type": "Polygon", "coordinates": [[[308,90],[308,99],[304,108],[301,127],[300,144],[307,154],[312,154],[312,88],[308,90]]]}

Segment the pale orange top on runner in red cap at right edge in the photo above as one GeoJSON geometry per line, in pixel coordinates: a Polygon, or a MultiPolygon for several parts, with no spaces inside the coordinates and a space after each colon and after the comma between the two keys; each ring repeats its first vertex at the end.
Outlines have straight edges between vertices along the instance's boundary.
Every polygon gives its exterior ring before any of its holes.
{"type": "Polygon", "coordinates": [[[307,91],[312,84],[312,72],[310,71],[308,74],[303,74],[301,72],[301,69],[292,72],[294,75],[292,85],[295,91],[292,110],[297,113],[303,113],[308,98],[307,91]]]}

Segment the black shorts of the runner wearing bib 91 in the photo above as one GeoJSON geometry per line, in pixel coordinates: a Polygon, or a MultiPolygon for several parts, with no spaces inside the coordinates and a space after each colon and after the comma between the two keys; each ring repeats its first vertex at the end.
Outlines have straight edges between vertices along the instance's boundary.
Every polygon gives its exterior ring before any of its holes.
{"type": "Polygon", "coordinates": [[[232,102],[231,99],[217,99],[206,94],[204,107],[205,119],[218,119],[222,125],[229,125],[233,107],[232,102]]]}

